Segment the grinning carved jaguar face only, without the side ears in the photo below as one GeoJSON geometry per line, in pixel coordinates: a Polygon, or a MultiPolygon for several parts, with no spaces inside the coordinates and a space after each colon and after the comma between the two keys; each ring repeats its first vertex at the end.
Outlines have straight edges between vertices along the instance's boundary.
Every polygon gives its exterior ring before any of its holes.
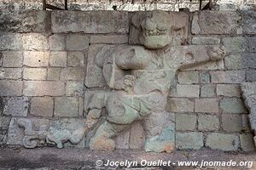
{"type": "Polygon", "coordinates": [[[141,21],[142,31],[140,42],[146,48],[164,48],[172,38],[170,37],[170,19],[165,11],[152,11],[144,15],[141,21]]]}

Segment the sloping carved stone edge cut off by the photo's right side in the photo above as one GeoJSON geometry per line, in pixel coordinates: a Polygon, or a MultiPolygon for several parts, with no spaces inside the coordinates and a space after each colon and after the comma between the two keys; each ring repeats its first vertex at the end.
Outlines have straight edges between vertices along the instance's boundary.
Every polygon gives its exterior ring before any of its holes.
{"type": "Polygon", "coordinates": [[[255,133],[253,139],[256,146],[256,82],[243,82],[241,84],[241,91],[247,109],[250,112],[249,121],[251,123],[251,128],[255,133]]]}

